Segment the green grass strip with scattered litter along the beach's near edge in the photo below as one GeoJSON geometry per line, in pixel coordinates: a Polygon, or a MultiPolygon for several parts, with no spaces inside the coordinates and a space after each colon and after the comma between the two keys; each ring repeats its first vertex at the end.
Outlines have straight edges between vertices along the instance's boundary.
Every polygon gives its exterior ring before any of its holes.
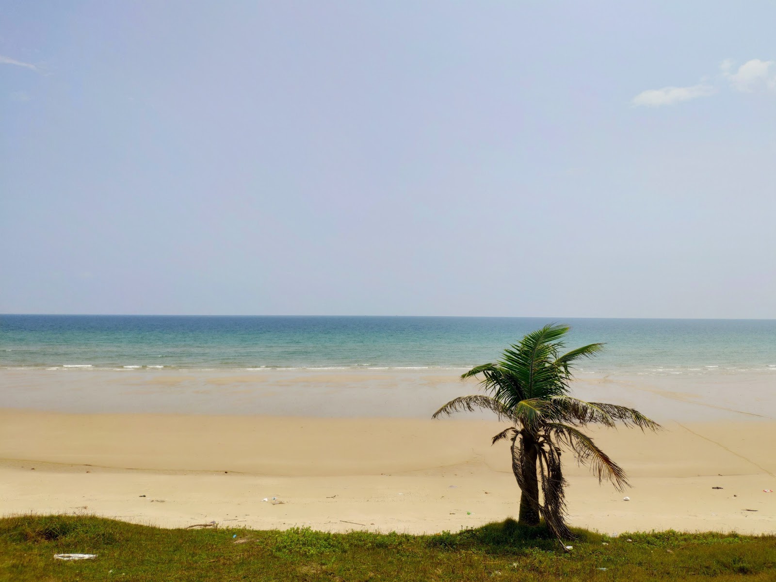
{"type": "Polygon", "coordinates": [[[0,580],[776,580],[774,535],[575,534],[566,552],[545,528],[511,520],[405,535],[161,529],[26,515],[0,519],[0,580]],[[55,553],[98,557],[63,562],[55,553]]]}

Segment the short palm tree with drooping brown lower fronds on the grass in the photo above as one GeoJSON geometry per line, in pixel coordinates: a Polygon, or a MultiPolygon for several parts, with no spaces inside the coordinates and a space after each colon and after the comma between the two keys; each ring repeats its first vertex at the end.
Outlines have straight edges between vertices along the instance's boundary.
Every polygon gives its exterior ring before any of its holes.
{"type": "Polygon", "coordinates": [[[564,490],[568,483],[560,464],[562,449],[589,465],[599,483],[611,481],[617,490],[629,487],[625,471],[580,428],[588,424],[615,427],[621,422],[642,431],[660,429],[660,424],[632,408],[570,396],[574,363],[598,354],[603,344],[585,345],[561,355],[563,336],[569,330],[565,325],[546,325],[505,349],[500,361],[470,369],[461,378],[480,375],[487,395],[456,398],[433,415],[438,418],[480,408],[509,421],[511,426],[494,436],[493,443],[504,438],[511,441],[512,472],[521,490],[518,523],[539,525],[539,519],[544,518],[562,538],[571,537],[565,521],[564,490]]]}

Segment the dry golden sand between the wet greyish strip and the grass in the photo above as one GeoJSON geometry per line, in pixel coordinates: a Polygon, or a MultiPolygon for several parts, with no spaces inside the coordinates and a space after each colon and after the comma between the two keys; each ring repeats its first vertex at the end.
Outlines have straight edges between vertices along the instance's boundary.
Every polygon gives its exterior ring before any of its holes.
{"type": "MultiPolygon", "coordinates": [[[[599,486],[566,457],[572,525],[609,533],[776,532],[776,494],[763,491],[776,490],[776,422],[664,424],[656,435],[595,431],[598,444],[631,477],[625,493],[599,486]],[[625,495],[631,501],[622,501],[625,495]]],[[[5,408],[0,507],[5,514],[87,512],[165,527],[217,521],[249,528],[457,531],[517,513],[508,445],[490,446],[500,426],[5,408]]]]}

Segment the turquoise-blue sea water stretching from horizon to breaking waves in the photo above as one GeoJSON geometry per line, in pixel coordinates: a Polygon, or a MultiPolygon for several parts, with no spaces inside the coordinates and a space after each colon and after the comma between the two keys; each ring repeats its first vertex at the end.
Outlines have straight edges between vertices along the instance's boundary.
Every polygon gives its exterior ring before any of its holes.
{"type": "Polygon", "coordinates": [[[465,368],[551,321],[607,343],[585,371],[776,379],[776,320],[2,315],[0,368],[465,368]]]}

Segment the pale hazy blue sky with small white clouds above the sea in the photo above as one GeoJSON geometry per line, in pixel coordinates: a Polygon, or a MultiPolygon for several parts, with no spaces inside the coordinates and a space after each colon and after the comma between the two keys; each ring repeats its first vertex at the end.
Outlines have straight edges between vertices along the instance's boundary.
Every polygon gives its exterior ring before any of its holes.
{"type": "Polygon", "coordinates": [[[0,12],[0,313],[776,317],[776,3],[0,12]]]}

